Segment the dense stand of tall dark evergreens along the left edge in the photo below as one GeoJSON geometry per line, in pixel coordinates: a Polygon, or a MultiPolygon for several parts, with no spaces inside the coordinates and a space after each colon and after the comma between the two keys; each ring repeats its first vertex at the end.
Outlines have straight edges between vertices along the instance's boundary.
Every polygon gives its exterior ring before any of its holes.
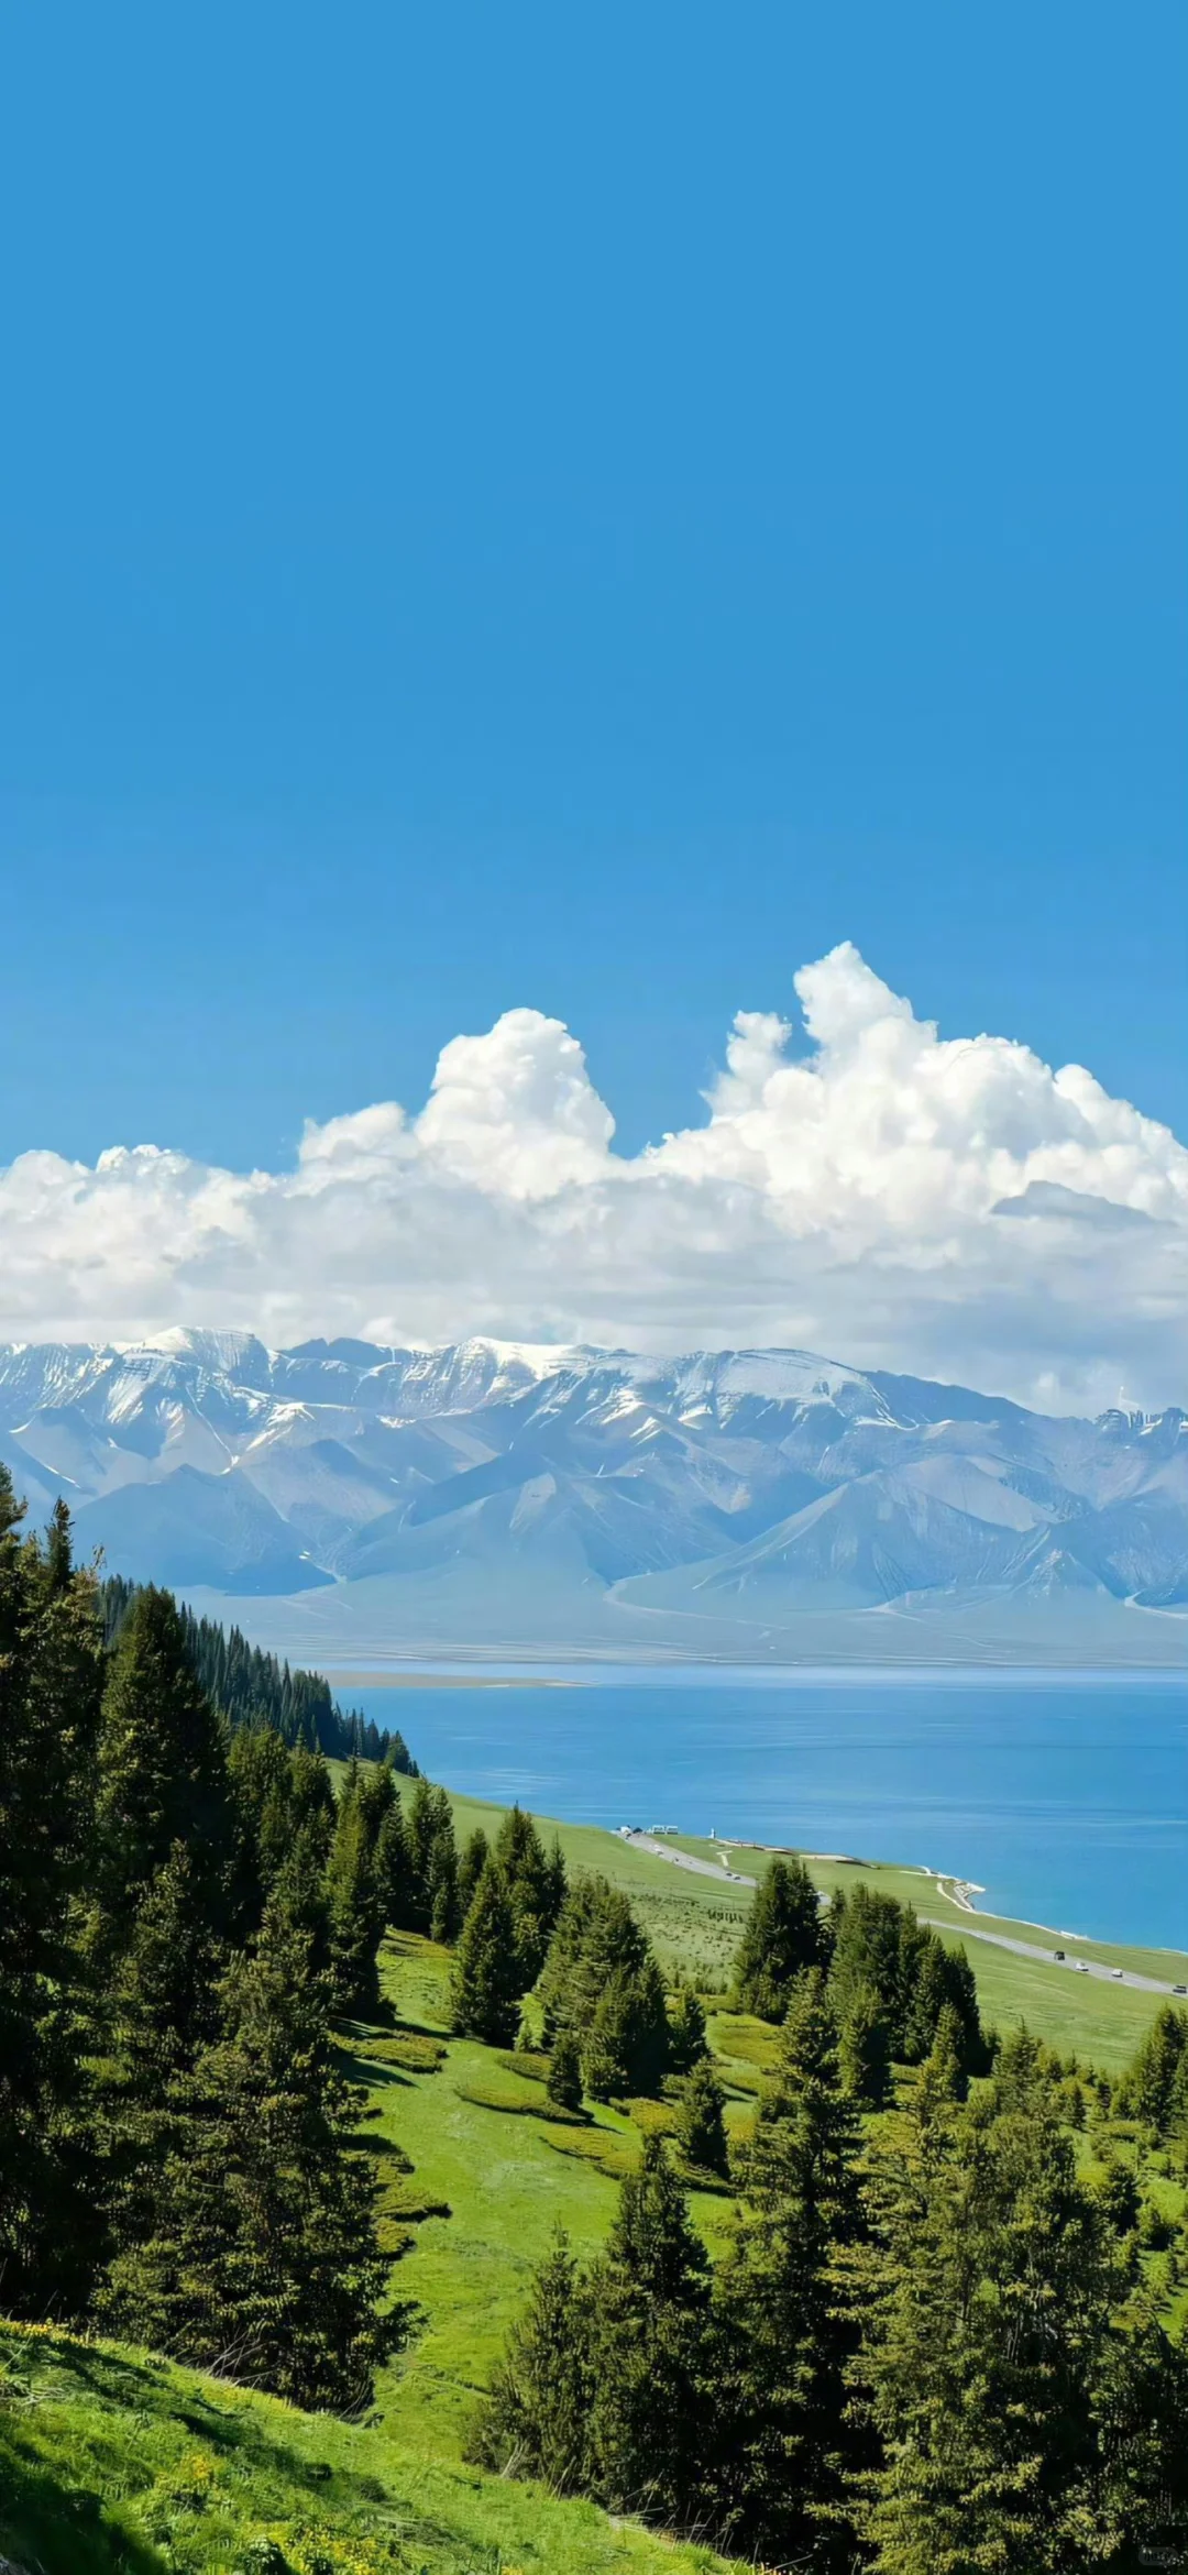
{"type": "Polygon", "coordinates": [[[168,1591],[106,1625],[0,1470],[0,2294],[356,2408],[402,2315],[335,2016],[394,1774],[335,1803],[322,1751],[232,1733],[168,1591]]]}

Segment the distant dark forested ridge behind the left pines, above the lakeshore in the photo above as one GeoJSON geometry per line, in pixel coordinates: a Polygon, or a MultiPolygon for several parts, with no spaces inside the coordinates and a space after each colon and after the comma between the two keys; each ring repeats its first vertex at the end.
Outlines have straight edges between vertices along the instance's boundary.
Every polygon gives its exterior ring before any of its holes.
{"type": "MultiPolygon", "coordinates": [[[[103,1584],[103,1633],[108,1645],[131,1609],[137,1584],[124,1573],[111,1573],[103,1584]]],[[[240,1627],[219,1627],[209,1617],[180,1609],[186,1648],[198,1687],[222,1707],[227,1723],[268,1725],[281,1743],[304,1743],[307,1751],[327,1754],[330,1761],[389,1761],[407,1777],[417,1764],[399,1728],[376,1725],[358,1707],[343,1710],[330,1681],[320,1671],[302,1671],[281,1663],[276,1653],[250,1645],[240,1627]]]]}

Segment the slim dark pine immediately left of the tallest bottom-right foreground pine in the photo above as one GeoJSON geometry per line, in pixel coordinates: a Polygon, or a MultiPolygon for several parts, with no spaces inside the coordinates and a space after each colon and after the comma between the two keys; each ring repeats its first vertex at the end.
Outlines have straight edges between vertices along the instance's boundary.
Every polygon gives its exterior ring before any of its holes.
{"type": "Polygon", "coordinates": [[[611,2511],[688,2529],[709,2446],[709,2258],[660,2137],[621,2184],[590,2274],[590,2482],[611,2511]]]}

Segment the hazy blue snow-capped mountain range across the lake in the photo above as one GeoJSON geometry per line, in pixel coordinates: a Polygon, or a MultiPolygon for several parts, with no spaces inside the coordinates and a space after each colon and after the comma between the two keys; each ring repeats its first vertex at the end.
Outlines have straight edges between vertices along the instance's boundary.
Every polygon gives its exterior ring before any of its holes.
{"type": "Polygon", "coordinates": [[[1188,1419],[799,1349],[0,1344],[34,1517],[286,1653],[1134,1661],[1188,1645],[1188,1419]]]}

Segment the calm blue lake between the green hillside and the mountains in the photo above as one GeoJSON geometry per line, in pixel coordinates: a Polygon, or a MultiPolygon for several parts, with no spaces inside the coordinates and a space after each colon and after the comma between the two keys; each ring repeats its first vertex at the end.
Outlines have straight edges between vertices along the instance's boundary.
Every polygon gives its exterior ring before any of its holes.
{"type": "Polygon", "coordinates": [[[1180,1676],[595,1674],[353,1689],[454,1790],[977,1880],[984,1911],[1188,1949],[1180,1676]]]}

